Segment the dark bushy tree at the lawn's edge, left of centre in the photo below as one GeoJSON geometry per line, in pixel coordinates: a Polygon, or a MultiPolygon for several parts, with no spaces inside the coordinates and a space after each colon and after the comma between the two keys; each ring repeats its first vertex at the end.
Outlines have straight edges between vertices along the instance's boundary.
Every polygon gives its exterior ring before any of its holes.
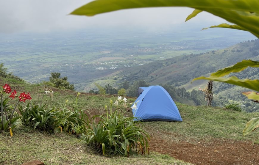
{"type": "Polygon", "coordinates": [[[60,77],[61,74],[57,72],[52,72],[50,74],[51,74],[51,77],[49,77],[49,81],[55,84],[57,88],[74,90],[74,85],[69,84],[69,82],[67,81],[68,78],[66,76],[60,77]]]}

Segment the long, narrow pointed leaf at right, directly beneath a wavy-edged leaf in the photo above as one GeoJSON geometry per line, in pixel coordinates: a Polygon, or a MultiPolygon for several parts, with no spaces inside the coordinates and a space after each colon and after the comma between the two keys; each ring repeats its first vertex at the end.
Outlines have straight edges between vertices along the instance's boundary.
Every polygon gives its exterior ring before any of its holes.
{"type": "Polygon", "coordinates": [[[235,76],[231,76],[229,78],[221,78],[218,76],[210,76],[210,77],[201,76],[198,78],[194,78],[192,81],[201,80],[201,79],[224,82],[224,83],[233,84],[233,85],[237,85],[240,87],[252,89],[255,91],[259,91],[259,80],[250,80],[250,79],[241,80],[235,76]]]}

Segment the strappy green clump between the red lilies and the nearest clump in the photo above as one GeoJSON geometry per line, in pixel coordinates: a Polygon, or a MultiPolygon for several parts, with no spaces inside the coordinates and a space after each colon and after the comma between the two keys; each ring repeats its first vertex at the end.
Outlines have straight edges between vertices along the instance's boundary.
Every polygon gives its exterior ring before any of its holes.
{"type": "Polygon", "coordinates": [[[72,108],[66,107],[68,100],[66,100],[65,106],[60,104],[60,107],[51,108],[50,102],[54,92],[50,89],[45,91],[44,94],[50,94],[49,105],[42,103],[42,99],[38,104],[38,98],[36,104],[28,103],[27,106],[18,107],[22,115],[21,121],[25,126],[33,126],[40,131],[47,131],[49,133],[54,133],[56,128],[60,128],[61,131],[75,133],[78,136],[82,133],[82,130],[86,130],[88,127],[88,116],[85,114],[85,111],[77,106],[77,99],[80,93],[77,94],[72,108]]]}

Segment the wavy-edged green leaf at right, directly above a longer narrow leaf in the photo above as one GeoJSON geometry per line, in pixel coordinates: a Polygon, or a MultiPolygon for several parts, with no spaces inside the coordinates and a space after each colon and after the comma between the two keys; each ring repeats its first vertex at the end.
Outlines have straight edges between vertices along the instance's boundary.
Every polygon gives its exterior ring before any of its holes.
{"type": "Polygon", "coordinates": [[[228,75],[231,72],[240,72],[240,71],[246,69],[247,67],[259,67],[259,62],[252,61],[250,59],[243,60],[241,62],[236,63],[235,65],[220,69],[217,72],[212,73],[210,76],[222,77],[222,76],[228,75]]]}

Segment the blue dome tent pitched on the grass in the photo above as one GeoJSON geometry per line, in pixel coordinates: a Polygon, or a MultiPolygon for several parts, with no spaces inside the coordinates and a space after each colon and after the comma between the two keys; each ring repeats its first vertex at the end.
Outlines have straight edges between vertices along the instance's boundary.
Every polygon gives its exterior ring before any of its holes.
{"type": "Polygon", "coordinates": [[[159,85],[141,89],[143,91],[135,101],[137,109],[132,109],[134,117],[142,121],[182,121],[179,110],[166,89],[159,85]]]}

